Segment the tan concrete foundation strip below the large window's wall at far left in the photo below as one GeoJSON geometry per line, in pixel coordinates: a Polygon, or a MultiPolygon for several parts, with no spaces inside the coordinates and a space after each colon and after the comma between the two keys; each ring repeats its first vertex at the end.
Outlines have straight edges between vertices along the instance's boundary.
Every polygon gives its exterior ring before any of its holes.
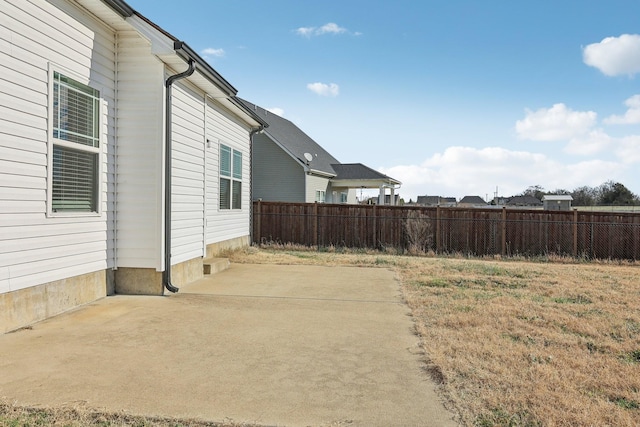
{"type": "Polygon", "coordinates": [[[0,334],[104,298],[109,277],[102,270],[0,294],[0,334]]]}

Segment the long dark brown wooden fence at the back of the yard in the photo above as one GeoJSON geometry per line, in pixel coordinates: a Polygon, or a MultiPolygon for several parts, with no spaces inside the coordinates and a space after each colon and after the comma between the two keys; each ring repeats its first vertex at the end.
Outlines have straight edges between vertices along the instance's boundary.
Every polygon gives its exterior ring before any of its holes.
{"type": "Polygon", "coordinates": [[[254,243],[640,260],[640,214],[323,203],[253,204],[254,243]]]}

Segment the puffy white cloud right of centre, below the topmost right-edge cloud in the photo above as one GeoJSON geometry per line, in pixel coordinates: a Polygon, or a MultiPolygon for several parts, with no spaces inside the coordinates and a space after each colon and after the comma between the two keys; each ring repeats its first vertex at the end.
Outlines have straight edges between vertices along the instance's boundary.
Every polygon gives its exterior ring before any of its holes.
{"type": "Polygon", "coordinates": [[[516,122],[516,132],[532,141],[570,140],[589,132],[596,119],[593,111],[573,111],[560,103],[549,109],[526,110],[525,118],[516,122]]]}

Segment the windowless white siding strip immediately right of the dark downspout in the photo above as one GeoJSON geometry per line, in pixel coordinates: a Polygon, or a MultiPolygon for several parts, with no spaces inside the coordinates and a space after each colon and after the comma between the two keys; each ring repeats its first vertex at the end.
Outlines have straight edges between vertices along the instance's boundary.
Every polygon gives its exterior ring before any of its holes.
{"type": "Polygon", "coordinates": [[[171,263],[205,255],[204,94],[181,82],[172,89],[171,263]]]}

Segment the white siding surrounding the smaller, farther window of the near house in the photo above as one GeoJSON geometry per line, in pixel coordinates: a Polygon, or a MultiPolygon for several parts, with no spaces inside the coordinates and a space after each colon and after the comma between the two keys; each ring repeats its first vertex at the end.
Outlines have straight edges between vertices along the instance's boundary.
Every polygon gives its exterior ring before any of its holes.
{"type": "MultiPolygon", "coordinates": [[[[249,235],[249,215],[251,203],[249,200],[249,131],[250,129],[237,117],[230,114],[213,100],[207,101],[206,135],[207,170],[206,170],[206,243],[218,243],[249,235]],[[220,144],[242,153],[241,174],[242,191],[240,196],[241,209],[220,209],[220,144]]],[[[240,161],[236,158],[237,163],[240,161]]],[[[232,155],[233,163],[233,155],[232,155]]]]}

